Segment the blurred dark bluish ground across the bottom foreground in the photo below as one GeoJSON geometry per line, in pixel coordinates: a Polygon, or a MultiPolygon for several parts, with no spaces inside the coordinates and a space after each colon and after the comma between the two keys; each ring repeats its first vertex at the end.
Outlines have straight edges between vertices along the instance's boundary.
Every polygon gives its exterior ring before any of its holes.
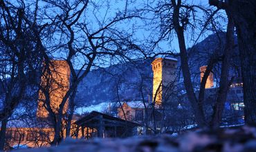
{"type": "Polygon", "coordinates": [[[197,130],[179,137],[162,134],[125,139],[96,138],[93,140],[66,139],[60,146],[41,149],[22,149],[19,152],[256,152],[256,127],[215,131],[197,130]]]}

